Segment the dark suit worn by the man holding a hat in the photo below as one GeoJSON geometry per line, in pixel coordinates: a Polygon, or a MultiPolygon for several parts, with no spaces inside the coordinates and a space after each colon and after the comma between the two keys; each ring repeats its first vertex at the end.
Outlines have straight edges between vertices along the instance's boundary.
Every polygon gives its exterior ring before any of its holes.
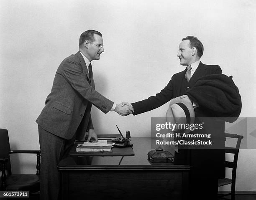
{"type": "MultiPolygon", "coordinates": [[[[195,84],[198,78],[210,74],[219,74],[221,73],[221,68],[218,65],[205,65],[200,62],[189,82],[187,82],[187,80],[185,79],[186,71],[187,68],[184,71],[174,74],[167,86],[162,89],[160,93],[156,94],[156,96],[150,96],[148,99],[133,103],[133,114],[137,115],[146,111],[156,109],[159,106],[162,106],[166,102],[170,101],[171,99],[186,94],[187,90],[189,90],[189,88],[191,88],[195,84]]],[[[195,117],[214,116],[212,113],[207,112],[207,110],[203,110],[202,108],[200,108],[199,105],[198,108],[195,108],[195,117]]],[[[218,130],[215,130],[215,133],[213,134],[217,135],[218,138],[221,138],[221,145],[224,147],[224,122],[219,123],[222,123],[223,126],[218,126],[218,130]]],[[[204,134],[203,132],[198,131],[194,131],[193,133],[204,134]]],[[[202,190],[213,190],[211,192],[214,193],[214,195],[217,195],[218,178],[225,177],[224,149],[179,149],[179,153],[175,152],[174,164],[192,166],[190,174],[191,193],[195,192],[195,190],[200,190],[201,192],[202,188],[202,190]],[[212,184],[212,186],[209,187],[214,188],[203,187],[205,184],[207,184],[203,181],[208,179],[210,180],[210,185],[212,184]]],[[[207,191],[207,193],[211,192],[207,191]]]]}

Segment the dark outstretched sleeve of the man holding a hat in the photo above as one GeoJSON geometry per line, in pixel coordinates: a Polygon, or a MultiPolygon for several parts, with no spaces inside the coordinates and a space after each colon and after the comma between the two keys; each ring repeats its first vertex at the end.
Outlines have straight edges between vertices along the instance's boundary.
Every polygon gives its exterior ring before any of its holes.
{"type": "Polygon", "coordinates": [[[158,94],[155,96],[150,96],[148,99],[132,103],[134,112],[133,115],[141,114],[143,112],[151,111],[156,109],[166,102],[173,99],[173,81],[169,81],[167,86],[164,87],[158,94]]]}

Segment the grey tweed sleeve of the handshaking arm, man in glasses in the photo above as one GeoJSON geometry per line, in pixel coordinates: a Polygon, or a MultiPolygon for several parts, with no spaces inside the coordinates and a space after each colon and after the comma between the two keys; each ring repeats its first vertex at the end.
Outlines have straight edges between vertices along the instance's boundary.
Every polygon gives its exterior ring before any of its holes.
{"type": "Polygon", "coordinates": [[[64,63],[62,70],[59,72],[57,71],[56,73],[60,73],[64,76],[74,90],[102,112],[107,113],[112,108],[114,104],[113,101],[105,98],[105,96],[102,96],[100,93],[95,91],[92,86],[90,86],[86,76],[82,72],[81,66],[77,63],[72,61],[64,63]]]}

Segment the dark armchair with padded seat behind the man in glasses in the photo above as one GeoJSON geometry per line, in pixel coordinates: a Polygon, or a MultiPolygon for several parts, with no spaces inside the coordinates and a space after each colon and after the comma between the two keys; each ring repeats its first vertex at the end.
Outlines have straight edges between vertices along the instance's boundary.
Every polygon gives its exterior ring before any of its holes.
{"type": "Polygon", "coordinates": [[[0,129],[0,171],[1,191],[29,191],[29,193],[40,190],[40,150],[10,150],[8,131],[0,129]],[[12,174],[10,155],[14,153],[36,154],[36,174],[12,174]],[[7,172],[7,173],[6,173],[7,172]]]}

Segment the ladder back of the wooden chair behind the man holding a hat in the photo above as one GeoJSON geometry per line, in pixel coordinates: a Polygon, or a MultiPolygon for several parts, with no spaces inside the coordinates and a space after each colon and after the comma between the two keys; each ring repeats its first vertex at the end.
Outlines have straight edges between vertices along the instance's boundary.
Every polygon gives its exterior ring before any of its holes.
{"type": "Polygon", "coordinates": [[[225,147],[225,153],[234,154],[233,162],[225,161],[225,167],[232,168],[232,181],[235,181],[238,153],[243,136],[238,134],[225,133],[225,137],[237,138],[236,147],[225,147]]]}

